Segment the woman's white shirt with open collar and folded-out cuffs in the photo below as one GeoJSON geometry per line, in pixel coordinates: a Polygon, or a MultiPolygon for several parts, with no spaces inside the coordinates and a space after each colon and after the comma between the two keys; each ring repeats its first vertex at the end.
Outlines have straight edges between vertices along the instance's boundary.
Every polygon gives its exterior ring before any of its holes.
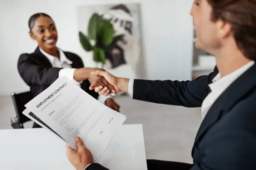
{"type": "MultiPolygon", "coordinates": [[[[71,81],[73,81],[76,85],[78,85],[81,88],[81,82],[77,82],[74,79],[74,71],[76,70],[76,68],[72,68],[71,64],[73,64],[72,61],[70,61],[66,55],[64,54],[63,51],[61,51],[60,49],[58,49],[59,54],[60,54],[60,59],[58,59],[57,57],[54,57],[50,54],[48,54],[47,52],[45,52],[44,50],[42,50],[41,48],[39,48],[39,50],[41,51],[42,54],[44,54],[45,57],[47,57],[47,59],[49,60],[49,62],[52,64],[52,67],[56,67],[56,68],[63,68],[59,71],[59,75],[58,77],[63,77],[66,76],[68,79],[70,79],[71,81]]],[[[98,100],[102,103],[105,104],[106,99],[110,98],[111,96],[102,96],[100,95],[98,100]]]]}

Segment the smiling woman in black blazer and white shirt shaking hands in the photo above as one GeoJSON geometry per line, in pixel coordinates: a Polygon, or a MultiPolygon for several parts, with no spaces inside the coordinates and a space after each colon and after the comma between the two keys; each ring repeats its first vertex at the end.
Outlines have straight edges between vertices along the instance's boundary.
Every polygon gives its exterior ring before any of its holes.
{"type": "MultiPolygon", "coordinates": [[[[58,77],[66,76],[91,96],[105,102],[109,108],[119,111],[119,105],[113,99],[107,95],[99,96],[89,90],[90,85],[114,89],[105,78],[91,75],[92,71],[100,68],[84,68],[78,55],[57,48],[58,33],[49,15],[44,13],[32,15],[29,18],[29,29],[30,37],[38,42],[38,48],[34,53],[21,54],[17,67],[22,79],[30,86],[34,97],[48,88],[58,77]]],[[[34,124],[33,127],[40,126],[34,124]]]]}

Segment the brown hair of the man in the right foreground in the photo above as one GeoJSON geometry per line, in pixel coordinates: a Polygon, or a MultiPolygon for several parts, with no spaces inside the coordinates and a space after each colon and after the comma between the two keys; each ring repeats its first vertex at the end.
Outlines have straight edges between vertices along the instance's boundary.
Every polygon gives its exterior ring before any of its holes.
{"type": "Polygon", "coordinates": [[[256,0],[207,0],[212,6],[213,22],[230,23],[238,48],[256,61],[256,0]]]}

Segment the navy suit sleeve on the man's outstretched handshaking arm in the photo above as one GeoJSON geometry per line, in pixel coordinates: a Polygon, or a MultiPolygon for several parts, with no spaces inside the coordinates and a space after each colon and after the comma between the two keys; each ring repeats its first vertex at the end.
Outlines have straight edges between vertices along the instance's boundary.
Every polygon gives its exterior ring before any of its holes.
{"type": "MultiPolygon", "coordinates": [[[[217,68],[215,67],[215,71],[217,68]]],[[[209,83],[212,82],[213,72],[192,81],[171,80],[134,80],[133,98],[146,102],[184,107],[201,107],[209,94],[209,83]]]]}

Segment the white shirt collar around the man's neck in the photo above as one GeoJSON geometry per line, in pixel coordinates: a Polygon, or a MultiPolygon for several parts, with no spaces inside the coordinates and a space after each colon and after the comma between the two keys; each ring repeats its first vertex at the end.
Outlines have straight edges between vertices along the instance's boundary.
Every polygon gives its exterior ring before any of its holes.
{"type": "Polygon", "coordinates": [[[209,88],[211,91],[224,91],[228,86],[230,86],[238,77],[244,74],[250,67],[255,64],[254,61],[251,61],[244,65],[243,67],[239,68],[238,70],[234,71],[233,73],[228,74],[225,77],[221,77],[221,74],[218,73],[213,79],[212,83],[209,84],[209,88]]]}

